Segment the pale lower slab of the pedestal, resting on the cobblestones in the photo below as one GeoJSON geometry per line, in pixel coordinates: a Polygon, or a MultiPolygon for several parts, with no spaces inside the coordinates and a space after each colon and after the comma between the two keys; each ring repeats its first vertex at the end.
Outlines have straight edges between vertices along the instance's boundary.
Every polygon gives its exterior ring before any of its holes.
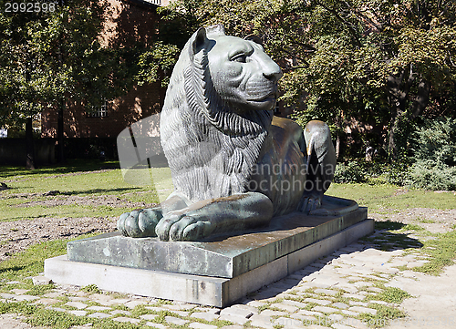
{"type": "Polygon", "coordinates": [[[266,284],[280,280],[286,275],[306,267],[317,258],[345,247],[373,231],[373,220],[360,221],[321,241],[288,253],[234,278],[74,262],[68,261],[67,255],[47,259],[45,276],[54,283],[80,286],[96,284],[100,289],[119,293],[134,293],[187,303],[225,307],[247,293],[252,293],[266,284]]]}

